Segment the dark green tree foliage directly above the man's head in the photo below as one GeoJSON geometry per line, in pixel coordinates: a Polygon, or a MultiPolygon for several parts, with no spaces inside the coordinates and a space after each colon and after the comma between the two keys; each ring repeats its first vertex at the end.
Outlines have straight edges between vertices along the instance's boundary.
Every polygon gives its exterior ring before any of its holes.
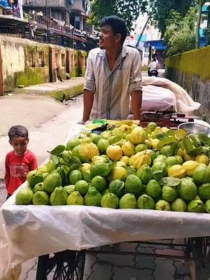
{"type": "Polygon", "coordinates": [[[108,15],[118,15],[127,22],[128,30],[132,30],[132,24],[139,17],[139,13],[145,13],[148,5],[146,0],[91,0],[91,15],[89,22],[99,27],[102,18],[108,15]]]}

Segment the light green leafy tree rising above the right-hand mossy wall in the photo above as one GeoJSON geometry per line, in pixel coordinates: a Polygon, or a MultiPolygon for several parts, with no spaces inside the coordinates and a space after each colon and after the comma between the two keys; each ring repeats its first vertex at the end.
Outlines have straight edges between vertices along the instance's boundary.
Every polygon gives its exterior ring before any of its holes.
{"type": "Polygon", "coordinates": [[[165,44],[167,55],[176,55],[195,48],[195,21],[197,8],[190,8],[185,18],[175,10],[171,10],[167,19],[165,44]]]}

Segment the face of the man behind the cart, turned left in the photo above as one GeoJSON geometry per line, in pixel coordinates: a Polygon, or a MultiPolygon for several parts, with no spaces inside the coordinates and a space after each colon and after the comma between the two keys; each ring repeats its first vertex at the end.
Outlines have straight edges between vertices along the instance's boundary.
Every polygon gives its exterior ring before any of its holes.
{"type": "Polygon", "coordinates": [[[99,34],[99,46],[105,50],[112,50],[114,45],[120,44],[121,34],[113,34],[111,26],[104,25],[99,34]]]}

